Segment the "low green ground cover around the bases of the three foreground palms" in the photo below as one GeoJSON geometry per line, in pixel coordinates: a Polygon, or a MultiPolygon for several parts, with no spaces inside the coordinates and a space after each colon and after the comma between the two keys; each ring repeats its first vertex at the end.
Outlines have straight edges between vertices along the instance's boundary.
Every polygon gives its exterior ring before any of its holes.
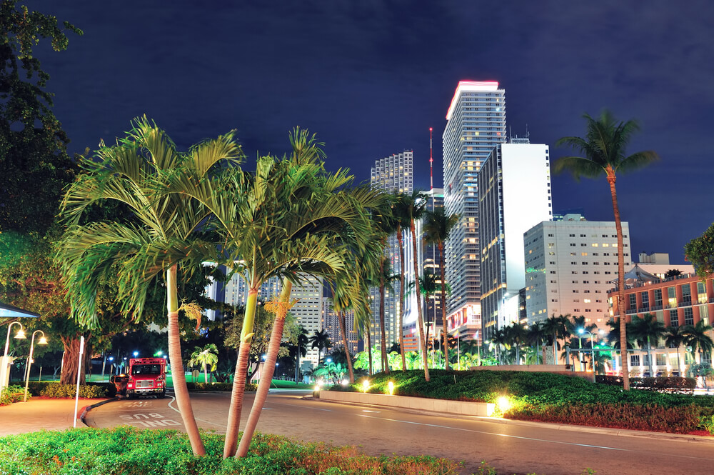
{"type": "Polygon", "coordinates": [[[185,434],[171,430],[69,429],[0,438],[0,473],[84,475],[253,474],[361,475],[460,473],[461,464],[431,456],[367,456],[351,446],[304,444],[256,434],[247,457],[223,459],[223,436],[203,434],[194,457],[185,434]]]}

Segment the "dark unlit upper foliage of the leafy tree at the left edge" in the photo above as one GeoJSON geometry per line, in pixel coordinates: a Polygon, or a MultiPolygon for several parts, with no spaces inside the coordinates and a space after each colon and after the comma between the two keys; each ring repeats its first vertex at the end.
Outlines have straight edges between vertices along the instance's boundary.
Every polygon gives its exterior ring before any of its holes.
{"type": "Polygon", "coordinates": [[[49,74],[33,47],[49,40],[64,51],[67,32],[83,32],[55,16],[28,11],[18,0],[0,3],[0,231],[44,235],[54,222],[62,189],[76,171],[69,139],[51,110],[49,74]],[[28,189],[31,184],[31,189],[28,189]]]}

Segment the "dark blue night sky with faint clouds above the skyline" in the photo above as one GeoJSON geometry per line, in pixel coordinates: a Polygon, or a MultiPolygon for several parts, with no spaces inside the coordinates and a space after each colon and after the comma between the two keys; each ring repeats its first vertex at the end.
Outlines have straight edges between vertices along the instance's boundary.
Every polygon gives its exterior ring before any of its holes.
{"type": "MultiPolygon", "coordinates": [[[[628,151],[662,161],[618,179],[632,254],[668,252],[714,221],[714,4],[710,1],[63,1],[29,4],[84,30],[36,51],[71,152],[114,142],[146,114],[183,148],[237,129],[252,169],[299,125],[328,168],[360,181],[414,151],[415,184],[441,186],[441,134],[459,80],[506,89],[513,134],[583,136],[607,107],[642,126],[628,151]]],[[[604,177],[553,177],[553,208],[612,221],[604,177]]]]}

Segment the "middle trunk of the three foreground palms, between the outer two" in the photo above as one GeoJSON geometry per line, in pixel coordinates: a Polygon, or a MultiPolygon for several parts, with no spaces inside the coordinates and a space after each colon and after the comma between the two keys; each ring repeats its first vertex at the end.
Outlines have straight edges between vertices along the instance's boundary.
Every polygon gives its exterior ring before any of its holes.
{"type": "Polygon", "coordinates": [[[223,443],[223,459],[236,454],[238,445],[238,429],[241,425],[241,411],[243,409],[243,394],[246,391],[246,377],[248,375],[248,359],[251,354],[251,342],[253,341],[253,323],[256,317],[256,304],[258,303],[257,286],[251,286],[248,291],[246,301],[246,313],[243,317],[243,329],[241,329],[241,346],[238,349],[238,361],[236,361],[236,374],[233,375],[233,391],[231,391],[231,406],[228,408],[228,427],[226,429],[226,441],[223,443]]]}

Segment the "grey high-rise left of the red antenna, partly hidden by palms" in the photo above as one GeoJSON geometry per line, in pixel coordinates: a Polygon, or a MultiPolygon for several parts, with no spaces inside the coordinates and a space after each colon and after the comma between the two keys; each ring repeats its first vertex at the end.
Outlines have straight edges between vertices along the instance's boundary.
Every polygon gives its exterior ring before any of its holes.
{"type": "MultiPolygon", "coordinates": [[[[411,195],[413,184],[413,151],[403,151],[401,154],[393,154],[383,159],[375,161],[371,173],[371,186],[373,189],[380,189],[386,193],[404,193],[411,195]]],[[[409,230],[403,230],[403,246],[404,246],[404,262],[405,262],[405,282],[414,281],[413,269],[413,248],[411,246],[411,236],[409,230]],[[410,271],[411,268],[411,271],[410,271]]],[[[401,271],[401,260],[399,256],[399,243],[396,234],[389,236],[387,240],[386,254],[389,256],[389,264],[394,274],[401,271]]],[[[405,284],[406,286],[406,284],[405,284]]],[[[389,347],[393,342],[399,341],[398,328],[398,311],[400,308],[399,302],[399,282],[395,281],[391,284],[392,291],[385,291],[384,304],[384,326],[386,333],[386,346],[389,347]]],[[[381,334],[379,331],[379,289],[371,289],[370,291],[372,304],[372,322],[371,334],[372,344],[381,343],[381,334]]],[[[416,302],[416,296],[411,296],[405,304],[404,319],[407,321],[413,312],[413,304],[410,301],[416,302]]],[[[416,314],[415,314],[416,319],[416,314]]]]}

